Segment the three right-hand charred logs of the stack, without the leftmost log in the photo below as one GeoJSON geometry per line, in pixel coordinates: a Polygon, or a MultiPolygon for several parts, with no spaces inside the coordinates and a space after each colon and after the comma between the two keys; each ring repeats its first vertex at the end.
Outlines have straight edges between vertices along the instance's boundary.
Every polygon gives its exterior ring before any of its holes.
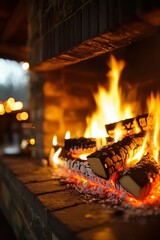
{"type": "Polygon", "coordinates": [[[105,179],[110,179],[114,173],[118,172],[117,180],[121,186],[134,197],[143,200],[159,174],[158,163],[148,154],[129,169],[126,163],[141,149],[146,131],[153,130],[153,118],[144,114],[106,125],[109,137],[113,137],[117,124],[121,126],[123,135],[128,136],[96,151],[88,156],[87,160],[93,172],[105,179]],[[137,127],[140,133],[134,134],[137,127]]]}

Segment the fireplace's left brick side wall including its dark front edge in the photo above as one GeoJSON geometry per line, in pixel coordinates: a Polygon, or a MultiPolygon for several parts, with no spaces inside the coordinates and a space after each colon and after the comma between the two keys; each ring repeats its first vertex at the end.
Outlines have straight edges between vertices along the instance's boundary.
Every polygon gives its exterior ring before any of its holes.
{"type": "Polygon", "coordinates": [[[95,73],[61,69],[31,73],[31,119],[35,125],[33,155],[47,156],[53,135],[64,143],[67,130],[72,137],[83,136],[86,116],[95,109],[92,96],[99,81],[95,73]]]}

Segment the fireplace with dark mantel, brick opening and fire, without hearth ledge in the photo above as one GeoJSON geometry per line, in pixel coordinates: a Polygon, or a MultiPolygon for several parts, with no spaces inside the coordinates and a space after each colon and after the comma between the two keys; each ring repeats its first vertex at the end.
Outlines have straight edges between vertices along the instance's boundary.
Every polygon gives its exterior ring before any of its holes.
{"type": "Polygon", "coordinates": [[[31,72],[33,156],[43,164],[47,159],[61,181],[84,196],[129,207],[132,214],[134,207],[152,205],[156,212],[160,206],[159,14],[144,16],[145,6],[133,5],[133,21],[125,21],[127,5],[121,9],[111,1],[87,1],[52,27],[46,20],[49,8],[40,9],[42,28],[30,36],[31,69],[37,71],[31,72]],[[108,112],[97,113],[102,107],[108,112]]]}

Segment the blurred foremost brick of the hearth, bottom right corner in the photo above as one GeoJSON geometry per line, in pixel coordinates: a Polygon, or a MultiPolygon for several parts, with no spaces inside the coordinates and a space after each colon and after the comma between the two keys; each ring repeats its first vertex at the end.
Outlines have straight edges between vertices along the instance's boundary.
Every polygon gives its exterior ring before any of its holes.
{"type": "Polygon", "coordinates": [[[105,239],[105,240],[137,240],[137,239],[160,239],[159,217],[157,221],[151,220],[148,224],[143,221],[117,222],[105,224],[101,227],[93,228],[78,234],[79,239],[105,239]]]}

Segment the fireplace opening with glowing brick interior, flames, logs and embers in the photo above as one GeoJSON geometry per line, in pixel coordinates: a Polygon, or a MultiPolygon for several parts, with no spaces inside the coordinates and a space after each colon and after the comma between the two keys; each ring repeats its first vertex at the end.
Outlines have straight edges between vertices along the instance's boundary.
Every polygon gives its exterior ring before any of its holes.
{"type": "MultiPolygon", "coordinates": [[[[159,211],[160,205],[159,126],[155,133],[157,152],[148,149],[147,144],[152,141],[155,116],[158,116],[159,123],[159,40],[160,34],[156,33],[109,54],[56,71],[46,71],[36,82],[43,96],[43,103],[39,103],[42,132],[37,136],[41,137],[44,152],[37,145],[35,154],[49,159],[62,181],[65,177],[67,184],[86,196],[98,196],[103,203],[118,202],[122,208],[147,209],[152,204],[155,206],[150,211],[152,213],[159,211]],[[103,91],[108,95],[111,93],[114,106],[106,98],[102,102],[98,99],[96,103],[99,90],[102,95],[103,91]],[[149,106],[153,104],[154,110],[147,105],[148,99],[152,100],[149,106]],[[85,135],[86,119],[94,114],[98,104],[109,109],[108,120],[100,116],[104,120],[105,135],[94,135],[95,125],[93,135],[85,135]],[[129,110],[128,105],[132,109],[129,110]],[[112,113],[118,106],[123,114],[114,118],[112,113]],[[115,122],[120,123],[121,130],[116,139],[113,136],[115,122]],[[149,138],[146,135],[148,129],[151,132],[149,138]],[[69,137],[65,137],[67,131],[70,131],[69,137]]],[[[37,124],[39,126],[39,119],[37,124]]],[[[38,138],[36,141],[40,143],[38,138]]]]}

